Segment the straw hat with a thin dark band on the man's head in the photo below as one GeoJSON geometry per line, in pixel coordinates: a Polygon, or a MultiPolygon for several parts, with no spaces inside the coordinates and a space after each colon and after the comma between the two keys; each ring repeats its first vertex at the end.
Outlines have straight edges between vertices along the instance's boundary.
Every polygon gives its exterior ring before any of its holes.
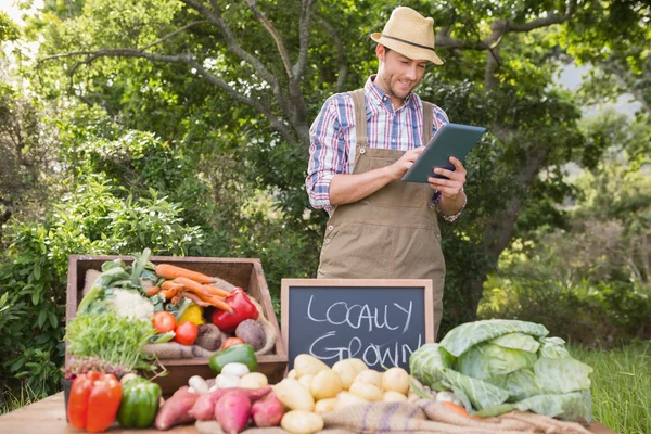
{"type": "Polygon", "coordinates": [[[412,60],[427,60],[443,65],[434,52],[434,20],[425,18],[411,8],[393,10],[381,34],[371,39],[412,60]]]}

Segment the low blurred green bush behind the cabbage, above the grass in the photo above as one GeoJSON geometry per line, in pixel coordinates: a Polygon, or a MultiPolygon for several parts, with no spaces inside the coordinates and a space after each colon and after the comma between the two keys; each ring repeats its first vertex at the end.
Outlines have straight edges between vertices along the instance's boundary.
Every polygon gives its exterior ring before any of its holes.
{"type": "Polygon", "coordinates": [[[651,337],[651,289],[635,283],[573,283],[537,270],[493,276],[484,288],[481,319],[539,322],[551,335],[588,346],[651,337]]]}

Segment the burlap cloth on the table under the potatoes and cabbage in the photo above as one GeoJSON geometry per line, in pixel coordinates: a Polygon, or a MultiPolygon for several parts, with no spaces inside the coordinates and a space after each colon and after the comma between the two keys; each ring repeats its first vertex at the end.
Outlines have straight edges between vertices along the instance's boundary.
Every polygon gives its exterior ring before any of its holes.
{"type": "MultiPolygon", "coordinates": [[[[580,424],[531,412],[513,411],[498,418],[473,419],[429,399],[416,403],[372,403],[323,414],[324,434],[451,433],[451,434],[590,434],[580,424]]],[[[215,421],[196,422],[202,434],[225,434],[215,421]]],[[[245,434],[289,434],[281,427],[254,427],[245,434]]]]}

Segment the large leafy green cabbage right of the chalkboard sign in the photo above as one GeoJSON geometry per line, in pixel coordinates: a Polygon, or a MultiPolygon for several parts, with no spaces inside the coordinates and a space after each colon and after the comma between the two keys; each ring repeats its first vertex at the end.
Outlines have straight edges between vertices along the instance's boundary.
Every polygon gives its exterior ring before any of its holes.
{"type": "Polygon", "coordinates": [[[465,409],[492,417],[513,410],[591,419],[592,368],[575,360],[540,324],[487,320],[461,324],[409,359],[411,374],[435,391],[454,391],[465,409]]]}

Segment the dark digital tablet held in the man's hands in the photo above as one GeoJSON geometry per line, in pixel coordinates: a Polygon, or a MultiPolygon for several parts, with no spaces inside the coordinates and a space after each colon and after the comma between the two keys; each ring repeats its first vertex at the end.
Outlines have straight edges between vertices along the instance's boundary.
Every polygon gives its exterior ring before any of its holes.
{"type": "Polygon", "coordinates": [[[407,170],[403,181],[429,183],[430,177],[448,179],[443,175],[434,174],[434,168],[442,167],[454,171],[455,166],[450,163],[450,156],[462,162],[485,131],[486,128],[483,127],[444,124],[432,137],[413,166],[407,170]]]}

